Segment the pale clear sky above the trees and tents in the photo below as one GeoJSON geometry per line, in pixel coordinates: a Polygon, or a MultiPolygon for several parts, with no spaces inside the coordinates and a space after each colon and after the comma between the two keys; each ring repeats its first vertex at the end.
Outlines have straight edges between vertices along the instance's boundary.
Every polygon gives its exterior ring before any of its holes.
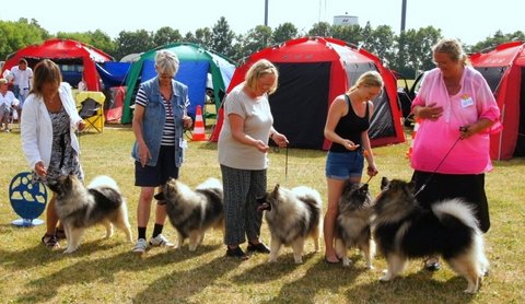
{"type": "MultiPolygon", "coordinates": [[[[269,0],[268,25],[292,22],[304,32],[312,24],[330,24],[335,15],[358,16],[360,25],[390,25],[398,34],[402,0],[269,0]]],[[[407,0],[406,28],[432,25],[446,37],[475,44],[498,30],[503,33],[525,31],[524,0],[407,0]]],[[[24,0],[10,1],[0,10],[0,19],[36,19],[51,34],[102,30],[112,37],[120,31],[162,26],[178,28],[184,35],[199,27],[212,27],[225,16],[236,34],[244,34],[265,21],[265,0],[24,0]],[[51,5],[52,3],[52,5],[51,5]]]]}

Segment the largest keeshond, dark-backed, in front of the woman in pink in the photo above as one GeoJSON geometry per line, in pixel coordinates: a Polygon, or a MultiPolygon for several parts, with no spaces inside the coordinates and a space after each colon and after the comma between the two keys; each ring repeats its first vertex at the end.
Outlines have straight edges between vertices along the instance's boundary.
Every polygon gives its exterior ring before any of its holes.
{"type": "Polygon", "coordinates": [[[460,199],[436,202],[423,209],[412,183],[383,177],[375,203],[373,235],[388,269],[380,280],[389,281],[410,258],[441,255],[468,281],[466,293],[476,293],[489,261],[483,236],[471,208],[460,199]]]}

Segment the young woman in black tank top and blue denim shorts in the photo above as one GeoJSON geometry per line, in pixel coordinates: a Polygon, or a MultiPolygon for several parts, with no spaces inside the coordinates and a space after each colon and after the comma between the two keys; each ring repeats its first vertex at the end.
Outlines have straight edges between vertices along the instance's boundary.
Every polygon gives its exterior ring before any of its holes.
{"type": "Polygon", "coordinates": [[[327,262],[339,261],[334,248],[334,230],[345,182],[361,182],[364,159],[369,164],[368,175],[377,174],[368,130],[374,110],[372,100],[381,94],[382,89],[380,73],[365,72],[347,93],[337,96],[328,109],[325,138],[331,141],[331,147],[326,157],[328,209],[324,220],[327,262]]]}

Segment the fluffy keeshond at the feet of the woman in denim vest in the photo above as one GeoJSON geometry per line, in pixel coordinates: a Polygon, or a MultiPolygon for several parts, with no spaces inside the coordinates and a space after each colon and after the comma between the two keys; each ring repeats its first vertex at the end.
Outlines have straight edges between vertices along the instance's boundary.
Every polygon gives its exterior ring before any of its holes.
{"type": "Polygon", "coordinates": [[[211,227],[224,230],[224,195],[217,178],[208,178],[191,190],[182,182],[171,178],[155,199],[166,203],[170,222],[178,234],[177,248],[189,238],[194,252],[211,227]]]}

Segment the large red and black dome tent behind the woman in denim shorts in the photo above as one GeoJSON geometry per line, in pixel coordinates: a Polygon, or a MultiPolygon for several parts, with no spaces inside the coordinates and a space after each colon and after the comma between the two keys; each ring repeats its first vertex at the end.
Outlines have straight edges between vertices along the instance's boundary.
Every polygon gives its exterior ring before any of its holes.
{"type": "MultiPolygon", "coordinates": [[[[289,40],[249,56],[235,70],[228,92],[243,82],[248,68],[262,58],[279,70],[278,90],[269,101],[273,126],[287,136],[290,147],[329,149],[324,126],[330,103],[370,70],[378,71],[385,81],[384,93],[373,101],[375,113],[369,131],[372,145],[405,141],[395,78],[374,55],[334,38],[289,40]]],[[[222,121],[221,108],[211,141],[219,139],[222,121]]]]}

